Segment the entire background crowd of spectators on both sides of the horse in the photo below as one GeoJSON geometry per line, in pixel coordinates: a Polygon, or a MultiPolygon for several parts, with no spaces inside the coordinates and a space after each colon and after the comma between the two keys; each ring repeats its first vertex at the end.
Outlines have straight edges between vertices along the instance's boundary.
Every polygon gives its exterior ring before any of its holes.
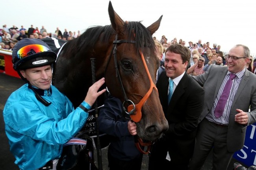
{"type": "MultiPolygon", "coordinates": [[[[12,50],[13,46],[24,38],[32,38],[32,39],[44,39],[47,37],[54,37],[58,39],[63,39],[66,41],[70,41],[72,39],[75,39],[80,36],[80,31],[76,33],[76,31],[67,31],[65,29],[63,33],[59,28],[56,28],[56,31],[54,33],[48,33],[46,28],[42,26],[42,28],[39,30],[38,27],[33,27],[33,25],[28,28],[24,28],[21,26],[21,28],[17,28],[13,25],[11,28],[7,28],[6,25],[3,25],[2,31],[0,31],[0,48],[5,50],[12,50]]],[[[165,49],[167,49],[171,44],[179,43],[184,46],[186,46],[186,41],[179,39],[177,41],[176,38],[172,39],[171,41],[168,41],[167,37],[163,35],[159,40],[156,39],[156,37],[153,37],[155,41],[160,42],[162,44],[164,52],[163,52],[163,59],[165,58],[165,49]]],[[[208,68],[211,65],[223,65],[226,66],[226,60],[225,60],[225,52],[222,52],[221,45],[218,45],[216,43],[213,43],[213,46],[210,46],[210,42],[202,43],[202,40],[198,40],[198,42],[193,43],[192,41],[188,42],[189,45],[187,48],[191,51],[191,59],[188,68],[189,74],[191,75],[198,75],[202,74],[203,72],[207,71],[208,68]],[[211,57],[211,54],[217,54],[217,57],[211,57]],[[221,61],[221,62],[220,62],[221,61]],[[204,64],[204,67],[202,67],[202,63],[204,64]],[[199,67],[198,67],[199,64],[199,67]],[[192,69],[193,68],[193,69],[192,69]]],[[[251,56],[250,63],[247,64],[247,69],[251,72],[256,71],[256,59],[253,61],[253,57],[251,56]]]]}

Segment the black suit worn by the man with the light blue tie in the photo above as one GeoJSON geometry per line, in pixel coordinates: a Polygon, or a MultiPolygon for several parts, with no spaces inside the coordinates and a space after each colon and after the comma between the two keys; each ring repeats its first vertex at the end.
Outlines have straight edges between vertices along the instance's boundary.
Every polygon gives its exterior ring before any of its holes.
{"type": "Polygon", "coordinates": [[[168,86],[169,78],[163,71],[156,87],[169,129],[152,147],[150,161],[156,161],[156,165],[150,163],[149,166],[153,167],[150,169],[156,169],[165,164],[163,161],[165,161],[167,151],[171,157],[167,165],[186,169],[193,153],[198,119],[203,108],[204,90],[186,72],[173,92],[169,105],[168,86]]]}

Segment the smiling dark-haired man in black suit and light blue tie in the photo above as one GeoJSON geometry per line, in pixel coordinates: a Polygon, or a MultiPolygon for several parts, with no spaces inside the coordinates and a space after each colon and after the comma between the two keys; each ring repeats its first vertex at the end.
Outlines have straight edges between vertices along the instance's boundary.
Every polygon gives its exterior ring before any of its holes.
{"type": "Polygon", "coordinates": [[[186,73],[190,55],[190,50],[181,44],[173,44],[165,52],[165,71],[159,76],[156,87],[169,129],[152,146],[149,170],[166,167],[186,170],[191,159],[204,91],[186,73]],[[169,87],[169,79],[173,87],[169,87]],[[168,102],[168,91],[172,88],[168,102]]]}

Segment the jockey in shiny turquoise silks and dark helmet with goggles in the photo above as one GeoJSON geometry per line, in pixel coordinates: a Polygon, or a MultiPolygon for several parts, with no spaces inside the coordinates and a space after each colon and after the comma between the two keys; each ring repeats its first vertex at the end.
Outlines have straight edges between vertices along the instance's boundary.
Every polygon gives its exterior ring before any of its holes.
{"type": "Polygon", "coordinates": [[[63,144],[85,124],[88,110],[106,89],[94,83],[79,107],[51,85],[56,53],[39,39],[22,39],[13,49],[13,68],[26,81],[4,107],[5,131],[20,170],[56,169],[63,144]]]}

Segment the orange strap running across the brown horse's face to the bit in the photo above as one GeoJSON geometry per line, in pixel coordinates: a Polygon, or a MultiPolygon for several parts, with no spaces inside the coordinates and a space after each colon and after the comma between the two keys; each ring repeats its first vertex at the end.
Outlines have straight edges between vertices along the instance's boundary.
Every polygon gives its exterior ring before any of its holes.
{"type": "MultiPolygon", "coordinates": [[[[141,54],[141,59],[143,61],[144,67],[145,67],[147,75],[148,75],[148,79],[150,81],[150,88],[149,88],[148,92],[145,94],[145,96],[141,99],[141,101],[138,104],[135,105],[136,109],[134,111],[134,114],[130,115],[132,120],[136,123],[141,120],[141,116],[142,116],[141,109],[142,109],[144,103],[148,100],[148,98],[149,98],[150,94],[152,93],[153,89],[155,89],[158,92],[158,90],[156,88],[156,85],[154,84],[154,82],[153,82],[153,80],[150,76],[150,73],[149,73],[144,55],[141,51],[139,51],[139,53],[141,54]]],[[[130,111],[132,111],[132,109],[134,109],[134,105],[129,105],[128,108],[127,108],[127,111],[130,112],[130,111]]]]}

